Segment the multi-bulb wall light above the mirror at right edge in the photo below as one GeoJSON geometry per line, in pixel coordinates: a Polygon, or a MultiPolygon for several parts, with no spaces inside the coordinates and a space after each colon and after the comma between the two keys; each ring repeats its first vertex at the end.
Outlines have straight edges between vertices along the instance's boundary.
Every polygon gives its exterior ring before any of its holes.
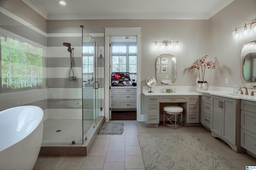
{"type": "Polygon", "coordinates": [[[233,38],[234,39],[239,39],[242,36],[246,36],[250,34],[250,30],[255,33],[256,32],[256,21],[252,21],[250,23],[245,23],[244,25],[240,26],[240,27],[236,27],[236,29],[234,29],[234,32],[232,33],[233,38]],[[250,24],[250,27],[247,27],[247,25],[250,24]],[[241,31],[237,30],[239,28],[241,28],[241,31]]]}

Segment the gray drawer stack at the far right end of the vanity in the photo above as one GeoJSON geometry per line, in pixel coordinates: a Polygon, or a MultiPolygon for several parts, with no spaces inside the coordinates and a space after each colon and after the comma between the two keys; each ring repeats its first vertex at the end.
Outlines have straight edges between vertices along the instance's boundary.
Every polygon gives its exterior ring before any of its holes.
{"type": "Polygon", "coordinates": [[[241,101],[241,146],[256,154],[256,102],[241,101]]]}

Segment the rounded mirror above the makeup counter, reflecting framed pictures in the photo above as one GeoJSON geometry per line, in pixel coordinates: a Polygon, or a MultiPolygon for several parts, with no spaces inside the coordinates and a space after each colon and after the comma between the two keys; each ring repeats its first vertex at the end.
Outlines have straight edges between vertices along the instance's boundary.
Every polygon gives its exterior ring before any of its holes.
{"type": "Polygon", "coordinates": [[[177,63],[174,55],[162,54],[156,59],[156,81],[162,85],[173,84],[177,75],[177,63]]]}

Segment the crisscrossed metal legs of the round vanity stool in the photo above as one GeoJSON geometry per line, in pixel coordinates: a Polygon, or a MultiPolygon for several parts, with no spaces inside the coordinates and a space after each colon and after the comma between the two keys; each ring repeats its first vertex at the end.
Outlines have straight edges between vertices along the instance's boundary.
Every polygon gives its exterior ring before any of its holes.
{"type": "Polygon", "coordinates": [[[170,113],[170,112],[164,111],[164,125],[174,126],[175,129],[176,129],[177,126],[182,125],[182,112],[180,112],[180,113],[170,113]],[[168,117],[166,114],[170,115],[170,117],[168,117]],[[174,120],[172,120],[173,117],[175,118],[174,120]],[[167,120],[165,120],[165,118],[167,118],[167,120]],[[170,124],[166,123],[167,121],[170,124]],[[173,121],[174,121],[174,123],[173,123],[173,121]]]}

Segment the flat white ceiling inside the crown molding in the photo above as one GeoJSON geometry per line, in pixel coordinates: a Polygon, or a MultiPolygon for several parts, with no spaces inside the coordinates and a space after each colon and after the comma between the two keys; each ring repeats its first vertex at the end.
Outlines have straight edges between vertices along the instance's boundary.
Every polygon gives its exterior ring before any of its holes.
{"type": "Polygon", "coordinates": [[[234,0],[22,0],[47,20],[208,20],[234,0]]]}

